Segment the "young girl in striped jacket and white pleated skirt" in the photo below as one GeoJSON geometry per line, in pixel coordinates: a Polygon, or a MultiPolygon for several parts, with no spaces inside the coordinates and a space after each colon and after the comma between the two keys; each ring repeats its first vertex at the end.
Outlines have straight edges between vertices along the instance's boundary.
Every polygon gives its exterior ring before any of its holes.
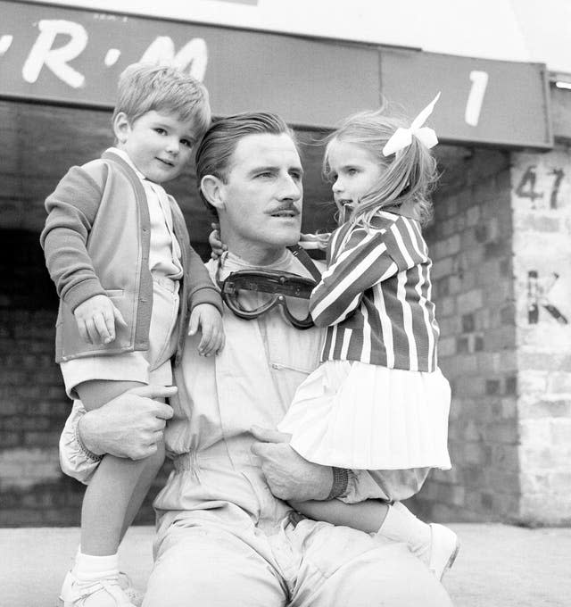
{"type": "Polygon", "coordinates": [[[420,231],[437,178],[429,151],[437,139],[422,125],[437,98],[408,129],[381,111],[362,112],[328,137],[324,170],[347,220],[329,238],[327,270],[310,298],[315,324],[327,327],[321,364],[278,429],[306,460],[349,470],[368,487],[292,503],[297,511],[405,542],[441,579],[457,536],[400,503],[431,468],[451,468],[451,393],[437,366],[432,262],[420,231]]]}

